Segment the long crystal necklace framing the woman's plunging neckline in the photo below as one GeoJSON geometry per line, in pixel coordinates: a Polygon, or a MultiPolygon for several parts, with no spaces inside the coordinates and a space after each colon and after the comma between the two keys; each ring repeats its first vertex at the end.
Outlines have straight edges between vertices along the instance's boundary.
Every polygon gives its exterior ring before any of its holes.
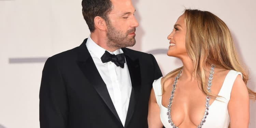
{"type": "MultiPolygon", "coordinates": [[[[211,86],[212,86],[212,79],[213,79],[213,73],[214,73],[214,68],[215,66],[212,65],[211,66],[211,71],[210,71],[210,76],[208,77],[208,87],[207,87],[207,91],[210,93],[211,92],[211,86]]],[[[172,122],[172,117],[171,117],[171,106],[172,106],[172,100],[173,100],[173,97],[174,97],[174,92],[175,92],[175,89],[176,89],[176,84],[177,84],[177,81],[178,79],[180,78],[181,76],[181,72],[182,72],[183,69],[181,69],[181,71],[178,73],[178,75],[175,77],[174,79],[174,84],[173,84],[173,88],[172,88],[172,91],[171,91],[171,97],[169,99],[169,104],[167,106],[168,110],[167,110],[167,116],[168,116],[168,122],[170,123],[170,125],[172,126],[172,128],[178,128],[177,126],[175,126],[172,122]]],[[[197,128],[202,128],[202,125],[203,123],[205,123],[205,118],[207,117],[207,115],[209,114],[208,113],[208,110],[209,110],[209,107],[210,107],[210,97],[207,95],[205,100],[205,112],[204,112],[204,115],[203,115],[203,118],[200,122],[200,124],[197,126],[197,128]]]]}

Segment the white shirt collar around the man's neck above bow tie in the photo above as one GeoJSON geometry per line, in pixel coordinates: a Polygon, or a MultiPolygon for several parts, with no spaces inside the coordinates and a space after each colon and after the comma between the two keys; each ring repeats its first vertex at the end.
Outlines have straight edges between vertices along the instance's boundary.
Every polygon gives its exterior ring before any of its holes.
{"type": "MultiPolygon", "coordinates": [[[[101,46],[99,46],[98,44],[96,44],[91,37],[89,36],[86,42],[86,47],[89,50],[89,52],[92,52],[94,55],[96,55],[99,59],[101,59],[101,56],[105,53],[105,51],[108,51],[104,48],[102,48],[101,46]]],[[[118,48],[116,49],[116,51],[114,52],[110,52],[108,51],[110,54],[120,54],[120,53],[124,53],[122,49],[118,48]]]]}

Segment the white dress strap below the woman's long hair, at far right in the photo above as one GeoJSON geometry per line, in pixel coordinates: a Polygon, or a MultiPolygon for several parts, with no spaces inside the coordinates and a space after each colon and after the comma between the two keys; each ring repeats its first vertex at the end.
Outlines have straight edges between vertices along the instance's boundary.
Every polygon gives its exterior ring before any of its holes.
{"type": "Polygon", "coordinates": [[[239,74],[242,76],[241,72],[237,72],[234,70],[230,70],[228,72],[228,74],[226,75],[226,77],[224,79],[221,90],[219,91],[219,94],[218,94],[218,96],[222,96],[224,99],[222,97],[217,97],[216,99],[221,100],[221,101],[226,101],[226,102],[228,102],[230,100],[230,94],[231,94],[231,90],[232,90],[234,81],[236,80],[237,75],[239,75],[239,74]]]}

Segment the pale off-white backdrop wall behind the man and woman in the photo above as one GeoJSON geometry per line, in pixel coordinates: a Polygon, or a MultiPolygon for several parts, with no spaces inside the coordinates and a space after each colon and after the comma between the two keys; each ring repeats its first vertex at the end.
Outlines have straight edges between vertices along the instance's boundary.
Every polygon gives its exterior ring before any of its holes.
{"type": "MultiPolygon", "coordinates": [[[[39,88],[45,58],[76,47],[89,36],[82,0],[0,0],[0,128],[39,128],[39,88]]],[[[255,0],[132,0],[137,44],[155,55],[165,75],[182,65],[166,55],[171,32],[184,8],[210,11],[229,26],[256,91],[255,0]]],[[[243,109],[243,108],[241,108],[243,109]]],[[[256,127],[250,104],[250,128],[256,127]]]]}

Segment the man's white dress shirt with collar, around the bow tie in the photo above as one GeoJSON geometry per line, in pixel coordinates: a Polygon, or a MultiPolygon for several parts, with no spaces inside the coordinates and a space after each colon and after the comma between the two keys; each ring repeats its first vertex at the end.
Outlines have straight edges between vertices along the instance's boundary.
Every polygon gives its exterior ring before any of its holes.
{"type": "MultiPolygon", "coordinates": [[[[124,126],[132,88],[127,63],[125,63],[124,68],[117,67],[111,61],[102,63],[100,58],[106,50],[97,45],[90,37],[87,39],[86,47],[106,84],[110,98],[124,126]]],[[[123,53],[123,51],[122,49],[117,49],[113,53],[109,53],[117,55],[123,53]]]]}

